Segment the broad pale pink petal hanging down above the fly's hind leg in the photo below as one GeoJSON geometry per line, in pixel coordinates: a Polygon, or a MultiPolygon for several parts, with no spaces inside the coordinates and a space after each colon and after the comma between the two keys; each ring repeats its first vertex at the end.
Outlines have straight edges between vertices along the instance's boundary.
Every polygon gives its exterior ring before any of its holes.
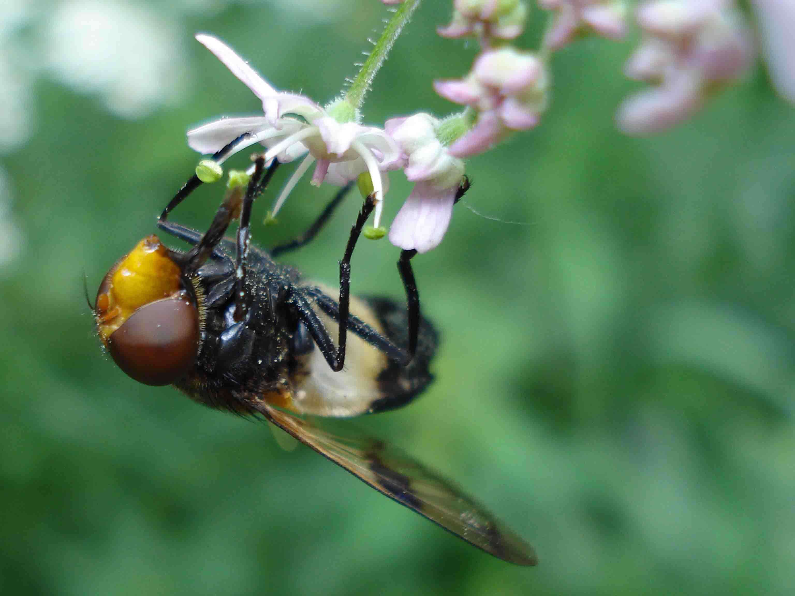
{"type": "Polygon", "coordinates": [[[390,226],[390,242],[418,253],[439,246],[450,225],[457,190],[457,185],[435,191],[429,184],[415,184],[390,226]]]}

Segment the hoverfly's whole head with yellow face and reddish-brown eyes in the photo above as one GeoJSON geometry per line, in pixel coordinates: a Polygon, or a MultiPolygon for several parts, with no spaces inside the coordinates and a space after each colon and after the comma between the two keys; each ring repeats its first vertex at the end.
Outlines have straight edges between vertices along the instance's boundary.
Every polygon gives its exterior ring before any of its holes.
{"type": "MultiPolygon", "coordinates": [[[[189,283],[189,282],[188,282],[189,283]]],[[[145,385],[169,385],[196,362],[199,309],[157,236],[138,242],[103,279],[95,319],[114,362],[145,385]]]]}

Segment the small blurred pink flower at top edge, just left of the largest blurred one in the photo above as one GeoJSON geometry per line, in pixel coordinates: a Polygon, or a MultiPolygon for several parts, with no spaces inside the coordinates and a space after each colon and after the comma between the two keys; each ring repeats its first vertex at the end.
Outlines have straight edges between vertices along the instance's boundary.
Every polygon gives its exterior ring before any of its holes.
{"type": "Polygon", "coordinates": [[[538,5],[556,11],[545,37],[550,49],[562,48],[580,31],[610,39],[624,37],[626,6],[621,0],[538,0],[538,5]]]}

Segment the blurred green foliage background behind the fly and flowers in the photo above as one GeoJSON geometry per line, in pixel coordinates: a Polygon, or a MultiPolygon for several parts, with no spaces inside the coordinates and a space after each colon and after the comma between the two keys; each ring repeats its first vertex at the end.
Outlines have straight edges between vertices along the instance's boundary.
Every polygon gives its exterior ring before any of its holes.
{"type": "MultiPolygon", "coordinates": [[[[436,37],[449,5],[421,7],[366,121],[455,109],[431,81],[466,73],[476,48],[436,37]]],[[[414,261],[443,336],[436,383],[353,424],[478,495],[537,548],[529,569],[308,449],[281,451],[263,424],[131,381],[83,299],[83,273],[93,296],[192,172],[185,130],[260,110],[194,33],[325,102],[382,4],[4,6],[3,594],[792,593],[795,114],[762,66],[684,126],[634,139],[613,114],[638,88],[621,75],[637,32],[560,52],[541,126],[467,165],[467,203],[522,225],[456,207],[414,261]]],[[[535,10],[520,44],[542,23],[535,10]]],[[[387,221],[408,190],[393,174],[387,221]]],[[[173,219],[206,226],[219,192],[173,219]]],[[[304,230],[331,192],[302,181],[255,241],[304,230]]],[[[358,207],[289,262],[333,282],[358,207]]],[[[360,243],[353,291],[400,299],[397,254],[360,243]]]]}

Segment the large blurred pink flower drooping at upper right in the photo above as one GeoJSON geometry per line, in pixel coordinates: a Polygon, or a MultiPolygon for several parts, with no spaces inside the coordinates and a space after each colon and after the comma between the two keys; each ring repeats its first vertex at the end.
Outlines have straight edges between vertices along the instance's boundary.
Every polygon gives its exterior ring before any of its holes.
{"type": "Polygon", "coordinates": [[[665,130],[689,118],[750,64],[750,36],[731,0],[653,0],[638,7],[646,37],[626,75],[657,83],[624,100],[616,120],[626,134],[665,130]]]}

